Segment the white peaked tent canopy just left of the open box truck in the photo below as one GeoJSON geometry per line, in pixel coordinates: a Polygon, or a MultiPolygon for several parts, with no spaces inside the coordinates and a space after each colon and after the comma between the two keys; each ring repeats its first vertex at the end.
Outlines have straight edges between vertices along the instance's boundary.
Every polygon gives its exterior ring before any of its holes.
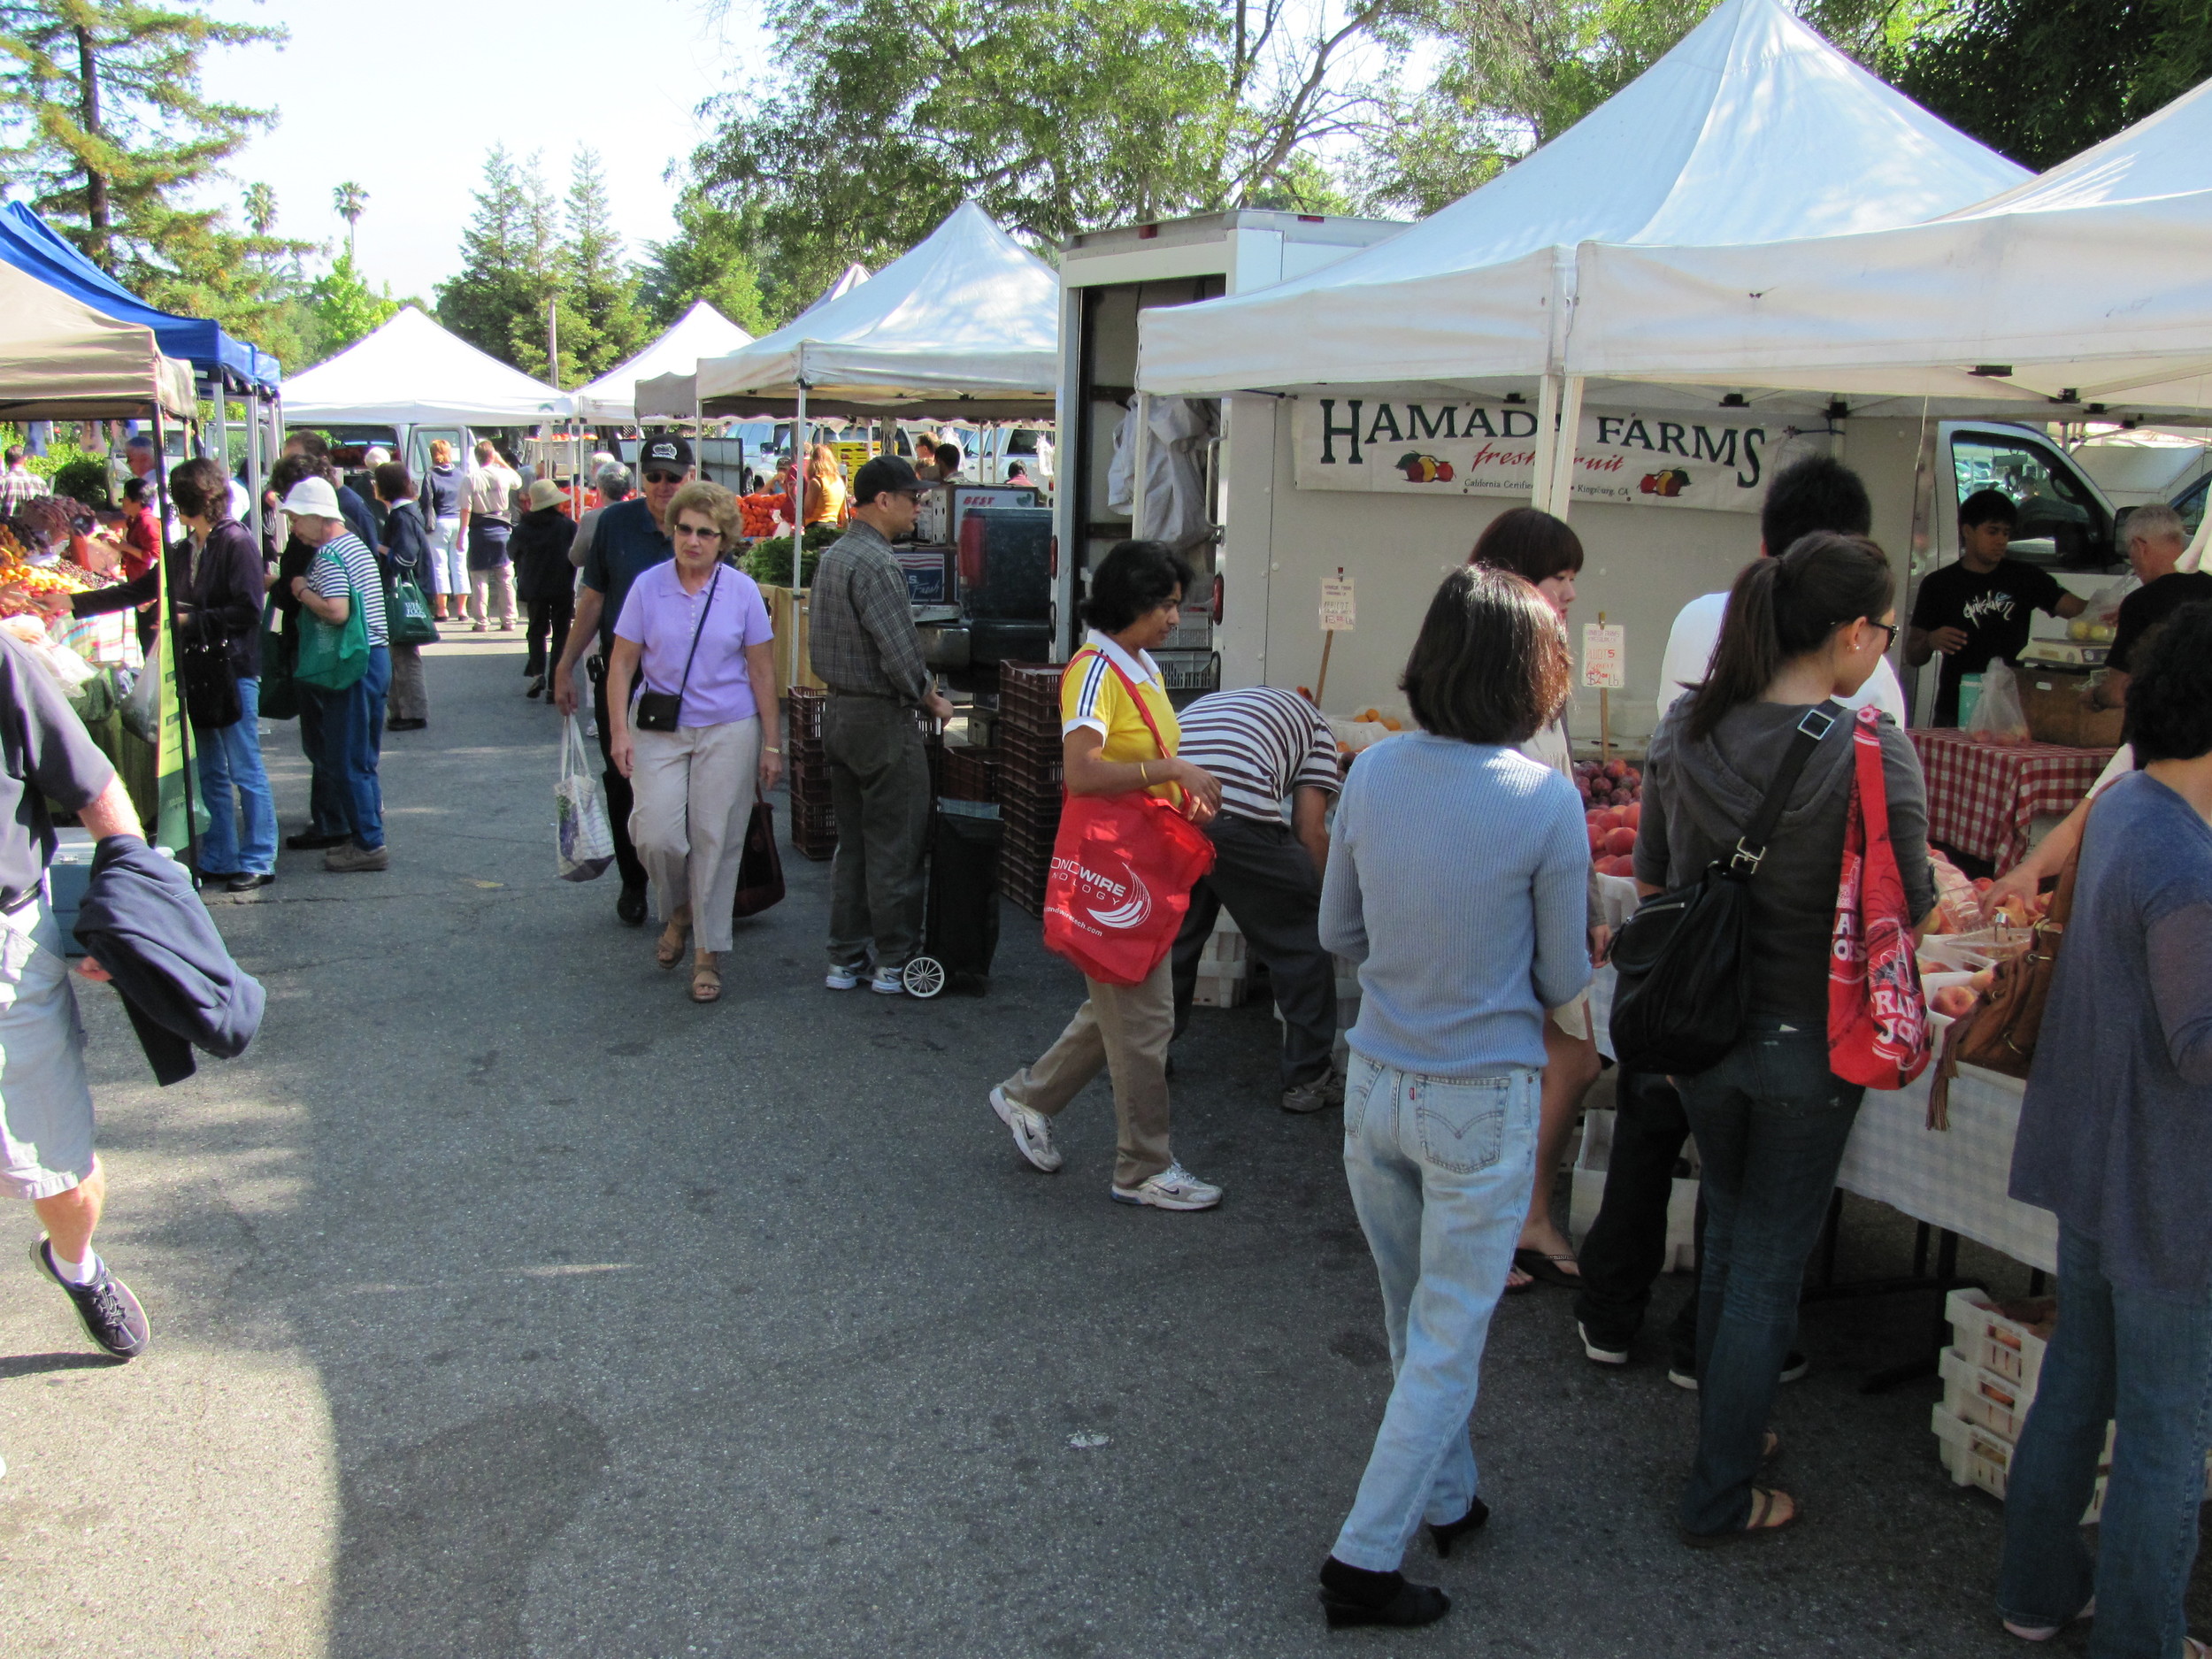
{"type": "Polygon", "coordinates": [[[1035,418],[1060,378],[1060,276],[973,201],[858,288],[699,363],[706,414],[1035,418]]]}

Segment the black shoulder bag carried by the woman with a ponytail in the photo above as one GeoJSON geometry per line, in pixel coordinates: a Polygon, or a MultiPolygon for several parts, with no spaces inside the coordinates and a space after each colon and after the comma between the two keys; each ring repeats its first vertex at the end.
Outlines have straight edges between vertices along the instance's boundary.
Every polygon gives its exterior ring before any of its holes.
{"type": "Polygon", "coordinates": [[[1752,1009],[1752,878],[1805,761],[1838,719],[1832,703],[1805,710],[1734,854],[1705,865],[1688,887],[1652,894],[1621,925],[1610,1031],[1626,1071],[1694,1075],[1736,1046],[1752,1009]]]}

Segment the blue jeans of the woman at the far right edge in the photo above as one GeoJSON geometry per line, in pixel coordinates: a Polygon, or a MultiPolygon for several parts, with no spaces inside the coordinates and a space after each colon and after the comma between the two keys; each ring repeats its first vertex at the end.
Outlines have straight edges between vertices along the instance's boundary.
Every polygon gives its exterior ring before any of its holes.
{"type": "Polygon", "coordinates": [[[2208,1442],[2212,1294],[2115,1285],[2097,1241],[2062,1225],[2059,1327],[2004,1493],[2004,1617],[2066,1624],[2095,1593],[2090,1659],[2181,1652],[2208,1442]],[[2081,1511],[2112,1420],[2112,1475],[2090,1566],[2081,1511]]]}

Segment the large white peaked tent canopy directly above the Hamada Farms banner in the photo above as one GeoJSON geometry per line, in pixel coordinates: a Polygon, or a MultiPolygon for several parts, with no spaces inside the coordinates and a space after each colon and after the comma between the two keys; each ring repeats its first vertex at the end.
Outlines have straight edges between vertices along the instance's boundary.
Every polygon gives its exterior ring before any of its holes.
{"type": "Polygon", "coordinates": [[[1137,385],[1515,389],[1557,372],[1582,241],[1778,241],[1916,223],[2026,173],[1783,0],[1723,0],[1573,128],[1303,281],[1144,312],[1137,385]]]}

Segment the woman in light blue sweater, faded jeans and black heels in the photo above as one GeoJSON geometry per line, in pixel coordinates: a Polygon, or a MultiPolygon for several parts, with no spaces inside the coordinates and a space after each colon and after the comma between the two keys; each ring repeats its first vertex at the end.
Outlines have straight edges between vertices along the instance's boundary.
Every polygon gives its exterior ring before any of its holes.
{"type": "Polygon", "coordinates": [[[1329,1624],[1429,1624],[1398,1571],[1489,1520],[1467,1438],[1491,1312],[1528,1210],[1544,1009],[1590,982],[1582,801],[1517,752],[1568,695],[1566,633],[1517,575],[1444,577],[1402,681],[1420,732],[1352,768],[1321,942],[1358,962],[1345,1177],[1383,1279],[1391,1387],[1321,1568],[1329,1624]]]}

